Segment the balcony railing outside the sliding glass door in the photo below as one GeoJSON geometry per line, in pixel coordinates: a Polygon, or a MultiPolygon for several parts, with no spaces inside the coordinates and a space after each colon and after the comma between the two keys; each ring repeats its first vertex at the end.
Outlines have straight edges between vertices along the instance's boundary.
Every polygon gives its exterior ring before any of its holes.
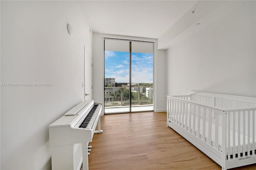
{"type": "MultiPolygon", "coordinates": [[[[129,88],[130,87],[104,87],[104,106],[129,106],[129,88]]],[[[132,86],[131,97],[132,105],[153,105],[153,87],[132,86]]]]}

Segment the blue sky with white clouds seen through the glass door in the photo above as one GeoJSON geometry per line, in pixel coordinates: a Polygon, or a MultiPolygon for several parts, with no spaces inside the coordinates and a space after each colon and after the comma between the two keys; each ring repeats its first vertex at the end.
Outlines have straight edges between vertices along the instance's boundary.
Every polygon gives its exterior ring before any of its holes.
{"type": "MultiPolygon", "coordinates": [[[[105,51],[105,77],[129,83],[129,52],[105,51]]],[[[152,53],[132,53],[132,83],[153,83],[152,53]]]]}

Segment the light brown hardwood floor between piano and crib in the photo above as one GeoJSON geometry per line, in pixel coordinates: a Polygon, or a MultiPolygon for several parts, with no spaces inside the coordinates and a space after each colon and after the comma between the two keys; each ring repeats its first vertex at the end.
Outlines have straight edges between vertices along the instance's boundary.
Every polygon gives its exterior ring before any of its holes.
{"type": "MultiPolygon", "coordinates": [[[[90,142],[89,169],[221,170],[203,152],[166,127],[166,113],[104,115],[103,133],[90,142]]],[[[256,169],[256,164],[233,170],[256,169]]]]}

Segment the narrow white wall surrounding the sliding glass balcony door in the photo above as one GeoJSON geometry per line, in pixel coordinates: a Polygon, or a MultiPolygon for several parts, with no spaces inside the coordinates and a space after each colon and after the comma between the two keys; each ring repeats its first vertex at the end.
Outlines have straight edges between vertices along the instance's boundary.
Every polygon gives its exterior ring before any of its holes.
{"type": "MultiPolygon", "coordinates": [[[[142,40],[156,42],[155,39],[116,36],[107,34],[93,34],[93,99],[104,103],[104,53],[103,53],[103,37],[121,38],[128,40],[142,40]]],[[[156,58],[154,60],[154,79],[156,79],[154,88],[156,99],[154,103],[154,111],[166,111],[166,78],[165,68],[165,52],[164,50],[156,50],[156,58]]]]}

